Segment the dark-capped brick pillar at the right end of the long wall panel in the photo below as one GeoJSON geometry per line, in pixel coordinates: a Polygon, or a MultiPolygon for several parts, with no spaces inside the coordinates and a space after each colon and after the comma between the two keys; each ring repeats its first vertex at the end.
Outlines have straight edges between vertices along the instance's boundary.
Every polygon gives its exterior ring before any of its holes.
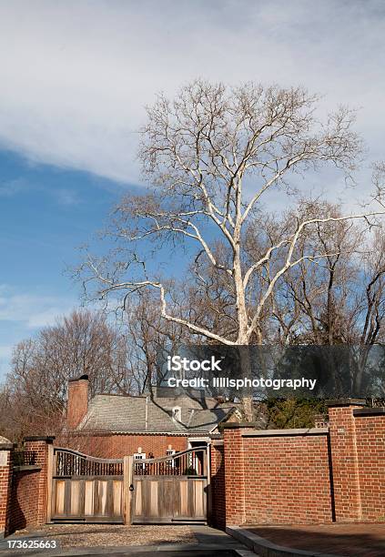
{"type": "Polygon", "coordinates": [[[336,400],[328,406],[336,522],[360,521],[360,476],[353,409],[365,406],[365,400],[336,400]]]}

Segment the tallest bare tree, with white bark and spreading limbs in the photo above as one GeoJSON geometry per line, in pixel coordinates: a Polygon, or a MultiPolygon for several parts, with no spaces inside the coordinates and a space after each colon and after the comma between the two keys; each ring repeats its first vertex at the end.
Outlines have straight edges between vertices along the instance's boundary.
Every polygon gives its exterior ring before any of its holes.
{"type": "MultiPolygon", "coordinates": [[[[87,254],[85,284],[95,280],[102,299],[124,292],[124,305],[130,293],[155,289],[162,318],[191,335],[229,346],[262,343],[264,312],[280,279],[303,261],[331,255],[305,251],[297,256],[302,235],[309,228],[362,217],[298,215],[258,258],[246,257],[248,226],[256,219],[263,222],[262,204],[271,199],[271,190],[293,193],[293,178],[321,165],[334,165],[347,175],[354,169],[360,153],[360,140],[351,130],[354,115],[339,108],[321,124],[316,103],[317,97],[302,88],[247,84],[228,89],[200,80],[182,87],[173,101],[158,96],[147,108],[139,151],[152,188],[117,207],[109,234],[120,247],[110,258],[87,254]],[[225,277],[230,328],[222,331],[208,319],[174,311],[170,282],[147,270],[149,250],[178,241],[196,247],[191,260],[197,280],[205,280],[202,265],[216,280],[225,277]],[[263,280],[256,280],[258,273],[263,280]]],[[[382,213],[380,207],[366,214],[382,213]]],[[[244,413],[252,419],[248,397],[244,413]]]]}

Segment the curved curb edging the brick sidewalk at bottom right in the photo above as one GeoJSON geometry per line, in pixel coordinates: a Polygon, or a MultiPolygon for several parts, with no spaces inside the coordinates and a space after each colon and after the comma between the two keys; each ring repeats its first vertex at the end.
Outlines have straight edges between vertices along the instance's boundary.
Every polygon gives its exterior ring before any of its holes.
{"type": "Polygon", "coordinates": [[[238,540],[238,542],[244,543],[248,549],[257,553],[260,557],[341,557],[334,553],[309,552],[276,545],[257,534],[248,532],[240,526],[227,526],[226,533],[238,540]]]}

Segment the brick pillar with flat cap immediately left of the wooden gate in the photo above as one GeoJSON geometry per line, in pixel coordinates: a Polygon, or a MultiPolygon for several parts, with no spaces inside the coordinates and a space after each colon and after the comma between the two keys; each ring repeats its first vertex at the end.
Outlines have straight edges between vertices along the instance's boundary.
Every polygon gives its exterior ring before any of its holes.
{"type": "Polygon", "coordinates": [[[48,447],[55,437],[25,437],[25,451],[34,451],[35,465],[40,468],[36,489],[36,522],[45,524],[47,518],[48,498],[48,447]]]}

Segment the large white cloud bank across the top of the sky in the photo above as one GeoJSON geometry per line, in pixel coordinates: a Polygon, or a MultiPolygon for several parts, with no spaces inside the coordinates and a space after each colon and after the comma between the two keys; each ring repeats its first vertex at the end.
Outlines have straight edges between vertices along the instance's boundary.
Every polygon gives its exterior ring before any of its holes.
{"type": "Polygon", "coordinates": [[[138,180],[137,127],[194,76],[302,84],[361,107],[381,157],[385,6],[367,2],[0,2],[0,145],[31,161],[138,180]]]}

